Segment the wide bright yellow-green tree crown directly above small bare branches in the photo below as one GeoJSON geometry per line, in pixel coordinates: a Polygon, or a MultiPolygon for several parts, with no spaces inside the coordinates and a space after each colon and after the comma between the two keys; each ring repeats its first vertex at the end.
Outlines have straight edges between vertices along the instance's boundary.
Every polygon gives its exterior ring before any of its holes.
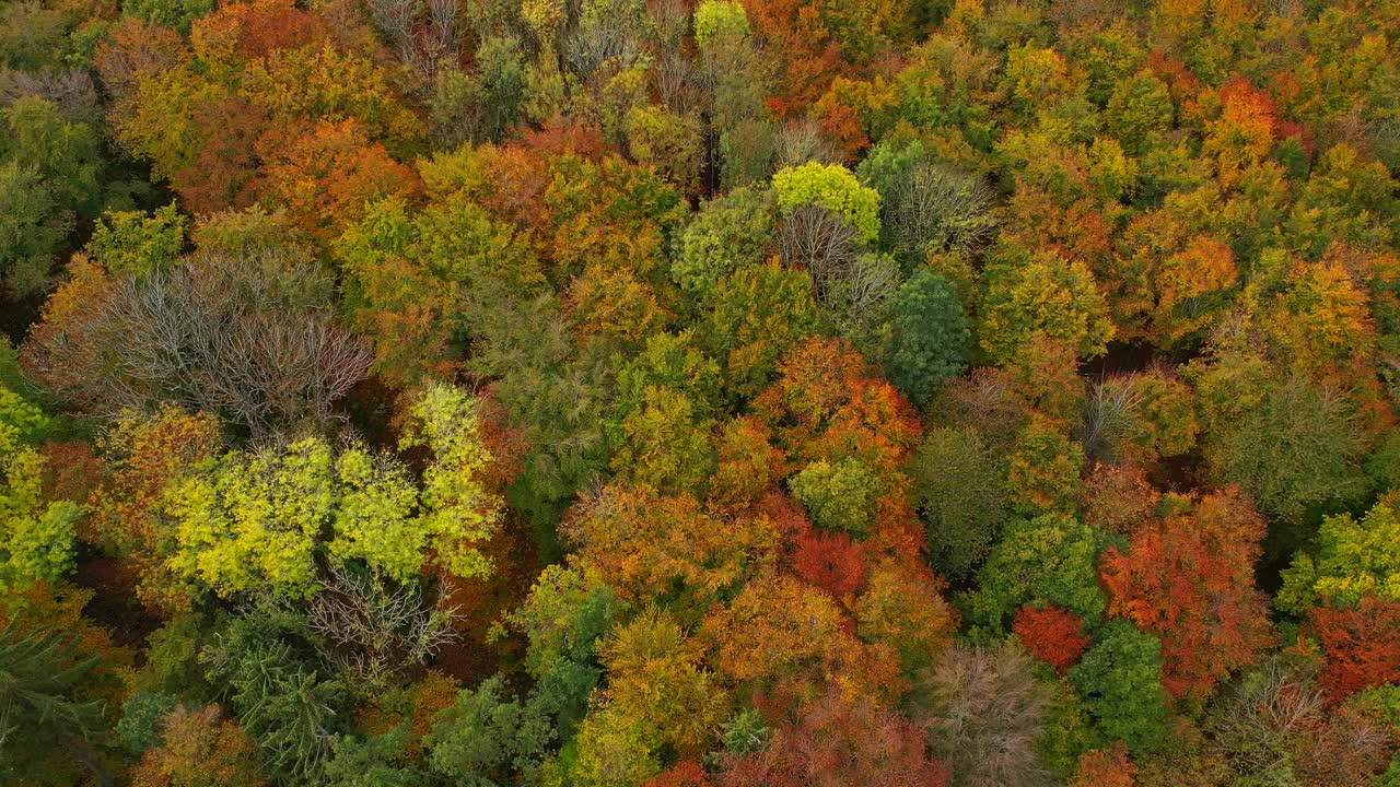
{"type": "Polygon", "coordinates": [[[500,501],[482,480],[491,455],[480,429],[476,399],[451,385],[413,402],[402,444],[433,454],[421,490],[402,462],[361,445],[333,451],[312,437],[225,454],[167,490],[169,566],[225,597],[262,587],[305,597],[322,549],[399,583],[430,555],[452,576],[486,576],[480,543],[496,531],[500,501]]]}

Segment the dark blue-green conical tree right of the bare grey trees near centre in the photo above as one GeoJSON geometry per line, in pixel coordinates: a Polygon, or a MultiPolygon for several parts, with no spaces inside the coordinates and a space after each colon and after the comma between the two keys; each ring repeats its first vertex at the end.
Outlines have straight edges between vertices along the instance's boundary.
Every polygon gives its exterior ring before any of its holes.
{"type": "Polygon", "coordinates": [[[916,272],[889,305],[895,332],[886,368],[911,402],[927,403],[945,379],[962,374],[970,333],[952,286],[928,269],[916,272]]]}

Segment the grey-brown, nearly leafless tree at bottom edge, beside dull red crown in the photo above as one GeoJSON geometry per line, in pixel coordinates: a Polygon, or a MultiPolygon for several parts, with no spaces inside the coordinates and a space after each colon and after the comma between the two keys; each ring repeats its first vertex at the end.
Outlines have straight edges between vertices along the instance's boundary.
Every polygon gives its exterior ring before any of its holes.
{"type": "Polygon", "coordinates": [[[1014,643],[946,648],[910,695],[911,716],[953,787],[1050,784],[1036,745],[1050,693],[1014,643]]]}

